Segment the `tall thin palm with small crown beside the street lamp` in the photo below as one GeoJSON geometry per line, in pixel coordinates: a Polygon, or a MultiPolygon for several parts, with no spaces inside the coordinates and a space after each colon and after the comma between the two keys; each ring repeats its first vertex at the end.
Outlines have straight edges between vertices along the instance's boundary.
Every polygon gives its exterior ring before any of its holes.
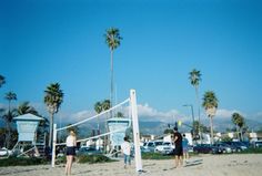
{"type": "MultiPolygon", "coordinates": [[[[200,71],[193,69],[189,74],[190,74],[190,76],[189,76],[190,83],[191,83],[191,85],[194,86],[194,90],[195,90],[195,100],[196,100],[196,104],[198,104],[199,123],[201,124],[201,122],[200,122],[200,101],[199,101],[199,83],[201,81],[201,73],[200,73],[200,71]]],[[[200,141],[202,143],[200,126],[199,126],[198,131],[199,131],[199,135],[200,135],[200,141]]]]}

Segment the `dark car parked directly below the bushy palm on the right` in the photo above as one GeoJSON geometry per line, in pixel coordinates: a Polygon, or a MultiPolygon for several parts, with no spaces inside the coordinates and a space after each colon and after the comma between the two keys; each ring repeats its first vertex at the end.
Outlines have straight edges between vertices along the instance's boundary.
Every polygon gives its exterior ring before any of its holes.
{"type": "Polygon", "coordinates": [[[198,144],[193,146],[193,152],[202,154],[221,154],[222,149],[218,146],[212,146],[210,144],[198,144]]]}

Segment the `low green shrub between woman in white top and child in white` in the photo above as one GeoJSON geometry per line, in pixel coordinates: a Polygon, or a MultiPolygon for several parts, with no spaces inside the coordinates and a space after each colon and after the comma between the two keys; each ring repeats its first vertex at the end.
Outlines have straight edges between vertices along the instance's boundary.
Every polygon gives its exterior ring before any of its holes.
{"type": "Polygon", "coordinates": [[[113,162],[109,157],[104,155],[80,155],[78,156],[78,163],[105,163],[105,162],[113,162]]]}

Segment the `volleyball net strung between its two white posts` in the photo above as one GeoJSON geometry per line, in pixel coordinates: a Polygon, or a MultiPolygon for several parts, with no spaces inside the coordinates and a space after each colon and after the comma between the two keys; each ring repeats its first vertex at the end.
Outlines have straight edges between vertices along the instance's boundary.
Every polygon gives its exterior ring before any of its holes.
{"type": "Polygon", "coordinates": [[[98,103],[94,105],[98,114],[63,127],[53,125],[52,167],[57,148],[64,148],[68,132],[74,131],[79,147],[95,147],[104,153],[119,147],[123,137],[128,136],[134,144],[135,169],[142,170],[135,91],[130,90],[127,100],[111,108],[107,107],[110,107],[107,102],[98,103]]]}

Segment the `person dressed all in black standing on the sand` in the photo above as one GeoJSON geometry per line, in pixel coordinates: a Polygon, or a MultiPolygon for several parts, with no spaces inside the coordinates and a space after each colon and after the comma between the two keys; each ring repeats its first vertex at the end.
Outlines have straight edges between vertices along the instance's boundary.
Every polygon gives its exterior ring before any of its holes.
{"type": "Polygon", "coordinates": [[[183,165],[183,146],[182,146],[182,135],[178,132],[178,127],[174,127],[174,156],[175,156],[175,165],[174,167],[183,165]]]}

